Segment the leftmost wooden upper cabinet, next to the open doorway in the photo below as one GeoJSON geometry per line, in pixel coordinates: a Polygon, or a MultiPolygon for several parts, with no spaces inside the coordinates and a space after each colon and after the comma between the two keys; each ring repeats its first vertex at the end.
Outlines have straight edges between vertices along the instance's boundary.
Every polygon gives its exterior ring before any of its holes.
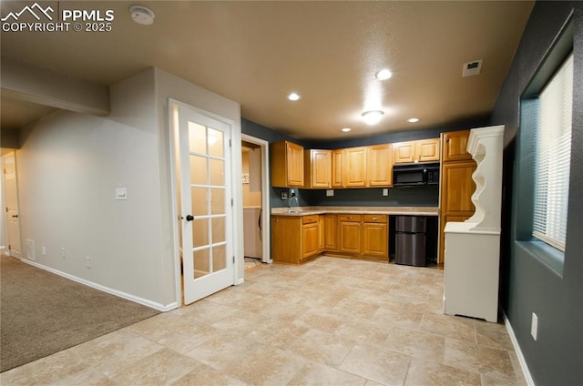
{"type": "Polygon", "coordinates": [[[289,141],[271,144],[271,186],[303,187],[303,147],[289,141]]]}

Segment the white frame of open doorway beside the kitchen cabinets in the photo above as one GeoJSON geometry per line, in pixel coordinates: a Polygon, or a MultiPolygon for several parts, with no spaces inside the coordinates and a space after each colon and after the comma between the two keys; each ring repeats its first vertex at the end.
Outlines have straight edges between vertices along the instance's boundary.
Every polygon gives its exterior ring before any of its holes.
{"type": "MultiPolygon", "coordinates": [[[[271,264],[271,207],[270,207],[270,143],[264,139],[241,134],[240,138],[245,142],[259,145],[261,148],[261,248],[263,255],[261,261],[271,264]]],[[[242,168],[241,168],[242,173],[242,168]]],[[[242,207],[242,205],[241,205],[242,207]]]]}

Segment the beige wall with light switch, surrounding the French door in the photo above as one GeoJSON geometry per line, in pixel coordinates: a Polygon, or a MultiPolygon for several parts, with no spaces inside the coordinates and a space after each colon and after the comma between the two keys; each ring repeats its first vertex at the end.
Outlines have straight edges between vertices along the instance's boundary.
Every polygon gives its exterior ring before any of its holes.
{"type": "MultiPolygon", "coordinates": [[[[230,119],[240,152],[239,104],[156,68],[111,86],[107,117],[44,117],[23,130],[16,151],[25,256],[26,240],[35,241],[37,266],[158,310],[179,306],[169,97],[230,119]],[[117,200],[116,188],[128,199],[117,200]]],[[[239,185],[233,190],[237,202],[239,185]]],[[[242,208],[233,217],[242,229],[242,208]]],[[[242,237],[234,244],[242,260],[242,237]]]]}

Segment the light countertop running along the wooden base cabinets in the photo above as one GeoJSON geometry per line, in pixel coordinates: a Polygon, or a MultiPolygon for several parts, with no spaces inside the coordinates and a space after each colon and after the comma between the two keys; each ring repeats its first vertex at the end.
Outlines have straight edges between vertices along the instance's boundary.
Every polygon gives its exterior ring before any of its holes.
{"type": "Polygon", "coordinates": [[[326,213],[347,213],[357,215],[409,215],[409,216],[437,216],[437,207],[299,207],[271,208],[273,216],[307,216],[323,215],[326,213]]]}

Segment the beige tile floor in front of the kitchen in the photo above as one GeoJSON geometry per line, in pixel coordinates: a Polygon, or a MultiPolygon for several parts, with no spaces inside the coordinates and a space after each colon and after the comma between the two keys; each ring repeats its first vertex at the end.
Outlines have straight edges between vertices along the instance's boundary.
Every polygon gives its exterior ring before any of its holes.
{"type": "Polygon", "coordinates": [[[442,314],[443,271],[321,257],[6,371],[2,385],[524,385],[502,324],[442,314]]]}

